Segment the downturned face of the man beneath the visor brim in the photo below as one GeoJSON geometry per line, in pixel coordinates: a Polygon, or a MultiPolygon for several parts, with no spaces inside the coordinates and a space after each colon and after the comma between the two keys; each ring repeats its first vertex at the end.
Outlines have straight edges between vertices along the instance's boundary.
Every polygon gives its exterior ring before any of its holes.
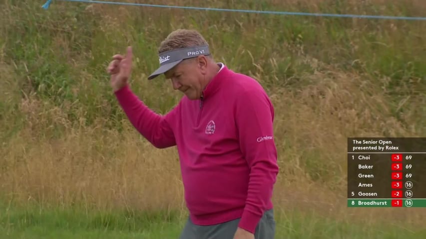
{"type": "Polygon", "coordinates": [[[181,91],[190,100],[200,99],[202,94],[201,79],[203,74],[203,63],[200,58],[186,59],[164,73],[173,84],[173,89],[181,91]]]}

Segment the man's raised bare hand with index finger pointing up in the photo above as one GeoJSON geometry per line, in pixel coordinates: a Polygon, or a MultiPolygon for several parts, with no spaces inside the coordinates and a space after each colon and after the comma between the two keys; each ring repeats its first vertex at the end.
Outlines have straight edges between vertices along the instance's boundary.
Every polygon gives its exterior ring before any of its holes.
{"type": "Polygon", "coordinates": [[[127,47],[126,55],[116,54],[112,57],[106,71],[111,75],[111,87],[118,91],[126,86],[132,70],[132,48],[127,47]]]}

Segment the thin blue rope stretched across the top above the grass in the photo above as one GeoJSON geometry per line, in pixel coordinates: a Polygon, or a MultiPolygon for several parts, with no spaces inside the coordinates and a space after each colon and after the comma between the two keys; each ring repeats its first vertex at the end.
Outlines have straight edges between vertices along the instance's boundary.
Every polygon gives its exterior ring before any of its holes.
{"type": "MultiPolygon", "coordinates": [[[[42,6],[47,9],[52,0],[47,0],[42,6]]],[[[308,12],[290,12],[290,11],[261,11],[261,10],[245,10],[245,9],[225,9],[225,8],[210,8],[210,7],[195,7],[195,6],[173,6],[173,5],[156,5],[145,3],[129,3],[129,2],[114,2],[114,1],[99,1],[99,0],[62,0],[62,1],[78,1],[88,3],[104,3],[104,4],[120,4],[132,6],[151,6],[151,7],[168,7],[181,8],[192,10],[213,10],[213,11],[234,11],[246,13],[265,13],[279,15],[303,15],[303,16],[330,16],[330,17],[350,17],[350,18],[378,18],[378,19],[395,19],[395,20],[426,20],[426,17],[410,17],[410,16],[383,16],[383,15],[355,15],[355,14],[331,14],[331,13],[308,13],[308,12]]]]}

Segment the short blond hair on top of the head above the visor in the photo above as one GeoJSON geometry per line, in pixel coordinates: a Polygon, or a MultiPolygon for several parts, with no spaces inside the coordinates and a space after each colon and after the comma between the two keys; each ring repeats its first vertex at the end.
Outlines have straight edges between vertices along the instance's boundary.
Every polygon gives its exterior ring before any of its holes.
{"type": "Polygon", "coordinates": [[[158,47],[158,54],[177,48],[203,45],[208,46],[208,43],[198,31],[190,29],[177,29],[171,32],[166,37],[166,39],[161,42],[160,46],[158,47]]]}

